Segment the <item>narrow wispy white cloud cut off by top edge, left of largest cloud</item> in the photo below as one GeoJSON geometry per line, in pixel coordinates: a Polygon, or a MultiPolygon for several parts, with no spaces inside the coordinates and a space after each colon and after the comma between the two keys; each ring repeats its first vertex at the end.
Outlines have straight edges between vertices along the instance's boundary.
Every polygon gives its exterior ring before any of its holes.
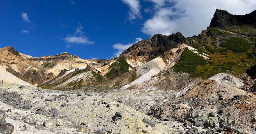
{"type": "Polygon", "coordinates": [[[141,19],[140,1],[139,0],[121,0],[124,4],[129,6],[128,20],[141,19]]]}

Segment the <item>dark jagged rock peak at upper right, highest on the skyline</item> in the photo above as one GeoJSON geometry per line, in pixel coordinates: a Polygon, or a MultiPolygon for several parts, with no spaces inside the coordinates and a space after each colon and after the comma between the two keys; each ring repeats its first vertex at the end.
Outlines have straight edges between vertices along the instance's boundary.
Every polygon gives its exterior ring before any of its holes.
{"type": "Polygon", "coordinates": [[[245,15],[233,15],[225,10],[216,9],[208,28],[228,28],[232,25],[255,24],[256,10],[245,15]]]}

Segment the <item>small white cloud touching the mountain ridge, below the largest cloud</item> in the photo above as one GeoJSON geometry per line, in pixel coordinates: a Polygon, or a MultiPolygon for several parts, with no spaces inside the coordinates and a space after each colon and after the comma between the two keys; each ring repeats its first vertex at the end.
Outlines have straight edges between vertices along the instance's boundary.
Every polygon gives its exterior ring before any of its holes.
{"type": "Polygon", "coordinates": [[[122,44],[122,43],[116,43],[113,45],[114,49],[117,49],[117,51],[114,52],[115,56],[118,56],[121,54],[125,49],[129,48],[132,46],[134,43],[137,43],[139,41],[143,40],[142,38],[135,38],[135,41],[133,43],[128,43],[128,44],[122,44]]]}

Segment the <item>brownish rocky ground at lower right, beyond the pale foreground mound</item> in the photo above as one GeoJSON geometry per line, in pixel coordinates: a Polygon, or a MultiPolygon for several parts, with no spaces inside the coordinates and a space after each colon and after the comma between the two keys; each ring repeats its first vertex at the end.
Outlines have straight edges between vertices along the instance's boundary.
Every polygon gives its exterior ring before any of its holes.
{"type": "MultiPolygon", "coordinates": [[[[156,77],[163,79],[164,74],[156,77]]],[[[152,80],[157,81],[154,77],[152,80]]],[[[246,82],[243,85],[241,79],[220,73],[210,79],[189,81],[176,90],[159,90],[159,85],[152,83],[141,89],[112,90],[105,95],[159,120],[182,122],[187,128],[201,127],[207,134],[256,133],[256,97],[243,90],[246,82]]]]}

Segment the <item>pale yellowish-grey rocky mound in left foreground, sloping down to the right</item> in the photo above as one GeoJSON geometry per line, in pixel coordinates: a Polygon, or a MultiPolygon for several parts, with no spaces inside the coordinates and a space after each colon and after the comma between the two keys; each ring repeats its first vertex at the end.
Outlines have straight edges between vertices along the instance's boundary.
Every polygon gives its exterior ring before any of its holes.
{"type": "Polygon", "coordinates": [[[186,131],[181,122],[157,120],[97,93],[19,86],[11,83],[0,84],[0,113],[7,123],[14,126],[14,134],[186,131]]]}

